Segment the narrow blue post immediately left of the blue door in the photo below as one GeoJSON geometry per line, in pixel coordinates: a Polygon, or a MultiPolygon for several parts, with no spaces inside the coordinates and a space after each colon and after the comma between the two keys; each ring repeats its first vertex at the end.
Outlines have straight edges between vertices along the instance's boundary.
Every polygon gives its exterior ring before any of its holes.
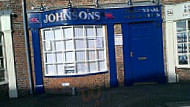
{"type": "Polygon", "coordinates": [[[123,58],[124,58],[124,83],[126,86],[133,84],[131,63],[130,63],[130,41],[128,25],[126,23],[121,24],[123,34],[123,58]]]}

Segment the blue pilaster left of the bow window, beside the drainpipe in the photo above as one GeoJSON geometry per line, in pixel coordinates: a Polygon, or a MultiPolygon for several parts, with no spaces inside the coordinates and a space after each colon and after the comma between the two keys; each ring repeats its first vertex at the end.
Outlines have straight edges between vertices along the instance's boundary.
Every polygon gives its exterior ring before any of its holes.
{"type": "Polygon", "coordinates": [[[41,62],[41,51],[40,51],[40,38],[39,29],[32,29],[32,43],[34,53],[34,70],[35,70],[35,93],[43,94],[43,77],[42,77],[42,62],[41,62]]]}

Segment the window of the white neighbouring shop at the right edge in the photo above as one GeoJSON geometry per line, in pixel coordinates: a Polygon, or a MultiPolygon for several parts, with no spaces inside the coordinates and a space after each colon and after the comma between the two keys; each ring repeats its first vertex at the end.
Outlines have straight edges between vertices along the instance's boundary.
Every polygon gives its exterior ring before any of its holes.
{"type": "Polygon", "coordinates": [[[181,20],[177,25],[177,62],[180,67],[190,67],[190,20],[181,20]]]}

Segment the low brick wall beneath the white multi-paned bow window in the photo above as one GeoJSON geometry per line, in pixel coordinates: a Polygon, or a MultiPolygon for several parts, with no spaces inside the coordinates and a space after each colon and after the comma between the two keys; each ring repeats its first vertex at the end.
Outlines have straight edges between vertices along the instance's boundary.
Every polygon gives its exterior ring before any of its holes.
{"type": "Polygon", "coordinates": [[[47,78],[44,77],[44,87],[46,93],[71,93],[72,87],[77,91],[95,88],[108,87],[109,81],[107,74],[97,74],[82,77],[61,77],[61,78],[47,78]],[[69,83],[70,86],[62,86],[62,83],[69,83]]]}

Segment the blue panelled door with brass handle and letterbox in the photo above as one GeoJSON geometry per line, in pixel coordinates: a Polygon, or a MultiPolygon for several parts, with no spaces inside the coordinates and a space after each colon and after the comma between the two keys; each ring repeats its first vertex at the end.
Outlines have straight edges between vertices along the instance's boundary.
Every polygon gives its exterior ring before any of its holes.
{"type": "MultiPolygon", "coordinates": [[[[129,24],[130,66],[133,83],[155,82],[157,69],[156,31],[154,22],[129,24]]],[[[162,46],[162,45],[160,45],[162,46]]],[[[160,75],[162,76],[162,75],[160,75]]]]}

